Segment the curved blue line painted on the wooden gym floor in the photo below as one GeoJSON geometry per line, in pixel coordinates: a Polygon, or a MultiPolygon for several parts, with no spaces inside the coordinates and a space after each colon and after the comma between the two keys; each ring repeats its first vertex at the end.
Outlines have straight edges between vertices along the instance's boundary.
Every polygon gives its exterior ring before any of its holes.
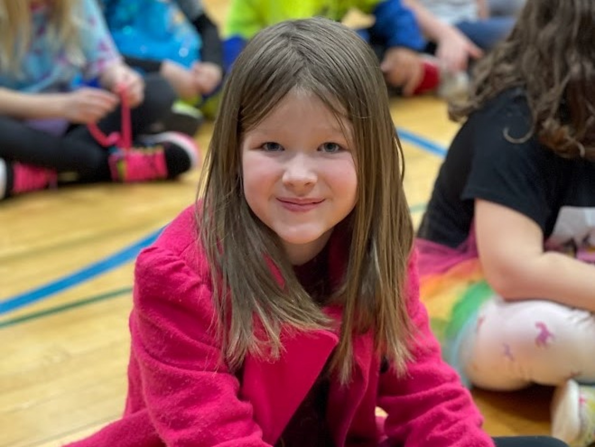
{"type": "MultiPolygon", "coordinates": [[[[439,157],[444,157],[446,154],[446,149],[442,148],[440,145],[437,145],[431,140],[419,135],[415,135],[414,133],[408,132],[405,129],[397,128],[397,132],[399,133],[399,137],[402,140],[417,146],[419,149],[430,152],[434,155],[438,155],[439,157]]],[[[412,207],[412,211],[414,211],[415,208],[419,209],[423,206],[424,205],[414,205],[414,207],[412,207]]],[[[0,301],[0,315],[17,310],[21,307],[25,307],[29,304],[33,304],[37,301],[42,301],[49,296],[60,293],[66,289],[70,289],[70,287],[77,286],[96,276],[107,273],[110,270],[114,270],[115,268],[120,267],[120,265],[126,264],[126,262],[136,258],[143,248],[151,245],[151,243],[157,239],[159,233],[161,233],[161,229],[105,258],[104,260],[90,264],[88,267],[84,267],[81,270],[77,270],[74,273],[49,282],[46,285],[37,287],[36,289],[32,289],[0,301]]]]}

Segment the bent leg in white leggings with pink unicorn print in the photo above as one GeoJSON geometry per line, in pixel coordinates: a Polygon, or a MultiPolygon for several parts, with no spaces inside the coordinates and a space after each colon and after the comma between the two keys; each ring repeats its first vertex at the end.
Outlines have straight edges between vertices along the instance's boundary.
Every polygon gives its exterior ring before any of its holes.
{"type": "Polygon", "coordinates": [[[595,380],[595,316],[550,301],[487,301],[461,346],[474,385],[513,390],[530,383],[595,380]]]}

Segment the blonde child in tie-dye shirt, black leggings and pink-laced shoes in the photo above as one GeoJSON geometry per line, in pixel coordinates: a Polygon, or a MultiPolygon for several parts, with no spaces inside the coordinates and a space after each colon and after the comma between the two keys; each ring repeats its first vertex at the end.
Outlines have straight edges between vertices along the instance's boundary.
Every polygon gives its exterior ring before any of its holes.
{"type": "Polygon", "coordinates": [[[48,187],[62,173],[137,182],[189,170],[197,157],[191,140],[140,138],[173,101],[164,80],[145,85],[123,64],[95,0],[0,0],[0,199],[48,187]],[[124,132],[122,114],[134,148],[115,139],[104,147],[84,126],[124,132]]]}

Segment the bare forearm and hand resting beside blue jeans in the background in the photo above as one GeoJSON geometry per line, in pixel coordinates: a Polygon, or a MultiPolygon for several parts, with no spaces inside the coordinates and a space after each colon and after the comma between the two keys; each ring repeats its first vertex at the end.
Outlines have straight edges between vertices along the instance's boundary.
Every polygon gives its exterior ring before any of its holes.
{"type": "Polygon", "coordinates": [[[449,70],[466,70],[469,58],[477,59],[483,55],[463,33],[428,11],[419,0],[403,2],[414,12],[424,35],[436,42],[436,56],[449,70]]]}

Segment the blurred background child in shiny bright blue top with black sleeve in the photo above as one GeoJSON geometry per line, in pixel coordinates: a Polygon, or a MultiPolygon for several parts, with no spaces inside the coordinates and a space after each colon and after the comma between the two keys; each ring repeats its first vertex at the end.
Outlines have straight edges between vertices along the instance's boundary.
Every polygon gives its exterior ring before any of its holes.
{"type": "Polygon", "coordinates": [[[205,105],[223,78],[221,40],[201,0],[102,3],[109,31],[126,62],[143,73],[160,73],[183,100],[174,104],[161,127],[196,133],[202,115],[189,105],[205,105]]]}

